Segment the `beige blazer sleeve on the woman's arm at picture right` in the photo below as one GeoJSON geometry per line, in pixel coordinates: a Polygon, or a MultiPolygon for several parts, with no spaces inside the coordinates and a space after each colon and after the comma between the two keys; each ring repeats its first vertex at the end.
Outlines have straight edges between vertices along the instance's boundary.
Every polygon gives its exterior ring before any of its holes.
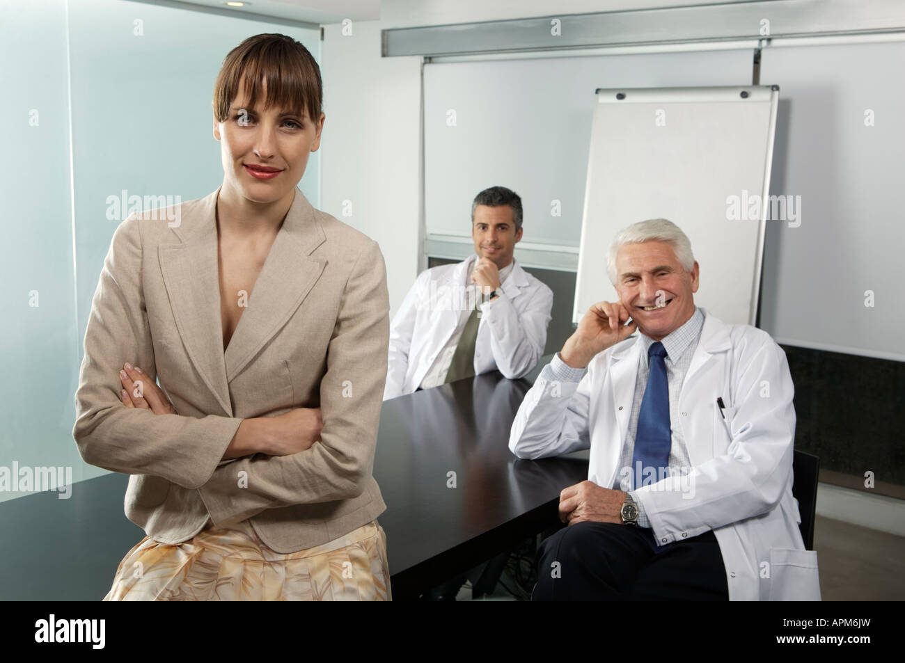
{"type": "Polygon", "coordinates": [[[256,455],[216,468],[198,490],[214,525],[364,491],[374,466],[388,341],[386,267],[370,242],[352,269],[329,343],[320,382],[320,440],[299,453],[256,455]]]}

